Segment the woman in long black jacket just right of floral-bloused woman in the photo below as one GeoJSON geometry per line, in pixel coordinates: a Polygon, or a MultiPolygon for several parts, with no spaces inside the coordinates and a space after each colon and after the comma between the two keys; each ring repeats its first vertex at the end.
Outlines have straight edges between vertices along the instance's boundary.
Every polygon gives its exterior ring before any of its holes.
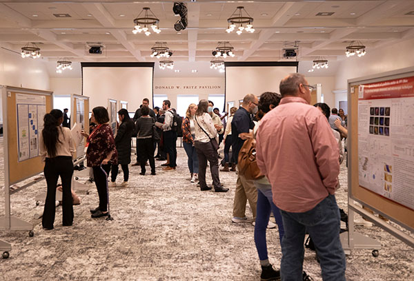
{"type": "Polygon", "coordinates": [[[129,169],[128,164],[131,163],[131,137],[134,132],[134,121],[131,120],[128,110],[121,109],[118,112],[119,122],[121,125],[118,127],[117,136],[115,136],[115,146],[118,152],[118,163],[112,164],[111,169],[111,183],[110,187],[115,187],[117,184],[118,166],[121,164],[122,171],[124,172],[124,183],[121,183],[121,187],[128,186],[129,169]]]}

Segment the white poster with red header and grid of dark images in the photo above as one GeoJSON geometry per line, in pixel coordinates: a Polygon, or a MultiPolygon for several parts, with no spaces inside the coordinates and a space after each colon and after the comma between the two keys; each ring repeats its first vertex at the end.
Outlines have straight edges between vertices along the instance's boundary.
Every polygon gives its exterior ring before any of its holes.
{"type": "Polygon", "coordinates": [[[414,209],[414,76],[357,91],[359,185],[414,209]]]}

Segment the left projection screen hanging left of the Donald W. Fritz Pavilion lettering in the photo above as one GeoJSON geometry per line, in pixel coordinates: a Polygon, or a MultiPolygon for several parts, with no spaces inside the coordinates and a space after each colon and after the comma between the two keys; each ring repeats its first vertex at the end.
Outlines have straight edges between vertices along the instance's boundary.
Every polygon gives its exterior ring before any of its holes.
{"type": "Polygon", "coordinates": [[[152,107],[154,63],[81,63],[82,94],[90,97],[90,110],[107,107],[108,98],[128,101],[135,112],[143,98],[152,107]]]}

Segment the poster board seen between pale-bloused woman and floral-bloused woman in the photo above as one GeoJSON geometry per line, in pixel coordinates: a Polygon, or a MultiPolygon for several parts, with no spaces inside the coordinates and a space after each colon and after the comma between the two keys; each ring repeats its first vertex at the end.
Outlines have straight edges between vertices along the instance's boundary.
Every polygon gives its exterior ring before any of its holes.
{"type": "MultiPolygon", "coordinates": [[[[72,104],[72,114],[70,116],[70,127],[72,128],[75,123],[81,125],[81,129],[85,132],[89,132],[89,97],[81,96],[78,94],[72,94],[71,104],[72,104]]],[[[84,152],[85,140],[81,141],[77,146],[77,156],[80,158],[85,154],[84,152]]]]}

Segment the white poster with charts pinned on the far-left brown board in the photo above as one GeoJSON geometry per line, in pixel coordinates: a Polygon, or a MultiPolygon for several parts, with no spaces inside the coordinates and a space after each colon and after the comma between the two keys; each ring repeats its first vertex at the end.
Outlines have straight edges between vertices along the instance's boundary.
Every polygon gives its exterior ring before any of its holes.
{"type": "Polygon", "coordinates": [[[16,94],[19,162],[39,156],[39,132],[46,114],[46,97],[16,94]]]}

